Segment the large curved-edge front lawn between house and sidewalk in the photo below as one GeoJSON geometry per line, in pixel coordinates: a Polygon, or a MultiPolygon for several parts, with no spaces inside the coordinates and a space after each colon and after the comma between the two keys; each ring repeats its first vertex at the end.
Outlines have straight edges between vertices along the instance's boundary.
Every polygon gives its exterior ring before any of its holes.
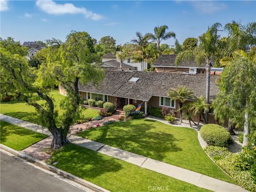
{"type": "Polygon", "coordinates": [[[197,132],[149,119],[117,122],[80,132],[79,136],[158,161],[235,183],[205,154],[197,132]]]}

